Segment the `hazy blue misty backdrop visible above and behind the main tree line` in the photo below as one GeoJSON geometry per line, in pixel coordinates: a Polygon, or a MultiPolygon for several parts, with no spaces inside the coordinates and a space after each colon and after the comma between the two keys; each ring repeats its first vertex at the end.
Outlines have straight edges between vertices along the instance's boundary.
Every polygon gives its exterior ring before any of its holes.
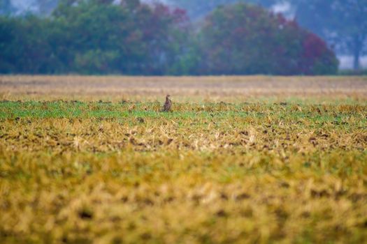
{"type": "MultiPolygon", "coordinates": [[[[66,2],[73,0],[66,0],[66,2]]],[[[103,1],[103,0],[101,0],[103,1]]],[[[108,0],[106,0],[108,1],[108,0]]],[[[131,0],[135,1],[135,0],[131,0]]],[[[120,4],[120,0],[113,4],[120,4]]],[[[143,0],[154,4],[159,1],[143,0]]],[[[171,8],[182,8],[192,26],[201,23],[216,8],[237,2],[252,3],[271,13],[280,13],[303,29],[315,33],[336,53],[341,69],[367,68],[367,0],[161,0],[171,8]]],[[[59,0],[0,0],[0,15],[48,18],[59,0]]],[[[199,25],[199,24],[198,24],[199,25]]],[[[1,46],[0,46],[1,47],[1,46]]]]}

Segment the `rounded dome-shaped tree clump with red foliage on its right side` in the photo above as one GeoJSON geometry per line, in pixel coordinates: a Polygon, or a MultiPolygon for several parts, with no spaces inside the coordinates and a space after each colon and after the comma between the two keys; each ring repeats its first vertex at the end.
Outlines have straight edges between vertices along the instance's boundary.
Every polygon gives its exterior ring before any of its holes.
{"type": "Polygon", "coordinates": [[[199,35],[204,74],[321,75],[338,67],[320,38],[259,6],[217,8],[199,35]]]}

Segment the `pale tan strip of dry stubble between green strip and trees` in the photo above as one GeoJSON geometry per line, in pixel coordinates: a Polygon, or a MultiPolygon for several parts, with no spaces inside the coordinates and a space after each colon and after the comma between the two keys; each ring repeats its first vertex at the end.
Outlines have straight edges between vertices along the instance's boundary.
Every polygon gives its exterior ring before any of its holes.
{"type": "Polygon", "coordinates": [[[80,77],[0,76],[3,99],[243,102],[249,98],[315,97],[366,100],[367,77],[80,77]]]}

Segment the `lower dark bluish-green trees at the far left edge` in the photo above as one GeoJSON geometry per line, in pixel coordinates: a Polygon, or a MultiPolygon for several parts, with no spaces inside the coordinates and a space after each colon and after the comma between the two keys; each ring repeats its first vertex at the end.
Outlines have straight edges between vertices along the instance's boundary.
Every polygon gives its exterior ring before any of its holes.
{"type": "Polygon", "coordinates": [[[50,22],[34,16],[0,17],[0,73],[53,73],[59,63],[45,29],[50,22]]]}

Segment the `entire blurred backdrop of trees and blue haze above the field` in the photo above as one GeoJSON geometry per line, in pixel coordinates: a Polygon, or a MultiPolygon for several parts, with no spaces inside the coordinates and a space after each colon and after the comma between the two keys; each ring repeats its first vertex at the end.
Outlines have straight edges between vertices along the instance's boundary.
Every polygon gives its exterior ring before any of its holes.
{"type": "Polygon", "coordinates": [[[366,74],[367,0],[0,0],[0,73],[366,74]]]}

